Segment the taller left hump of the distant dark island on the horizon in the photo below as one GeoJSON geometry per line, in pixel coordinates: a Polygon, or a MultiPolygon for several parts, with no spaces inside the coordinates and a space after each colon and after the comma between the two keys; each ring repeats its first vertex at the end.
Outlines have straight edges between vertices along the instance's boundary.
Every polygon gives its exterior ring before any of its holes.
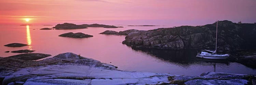
{"type": "Polygon", "coordinates": [[[57,24],[55,27],[53,28],[57,28],[57,29],[82,29],[82,28],[86,28],[83,26],[79,26],[73,23],[63,23],[63,24],[57,24]]]}

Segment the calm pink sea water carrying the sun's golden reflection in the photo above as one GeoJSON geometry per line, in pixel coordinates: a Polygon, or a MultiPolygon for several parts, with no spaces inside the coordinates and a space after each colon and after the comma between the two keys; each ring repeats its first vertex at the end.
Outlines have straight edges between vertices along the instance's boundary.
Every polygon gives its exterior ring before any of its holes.
{"type": "Polygon", "coordinates": [[[200,75],[207,71],[256,74],[252,69],[239,63],[212,61],[196,58],[196,50],[136,49],[122,44],[125,36],[99,34],[106,30],[124,31],[129,29],[152,30],[158,27],[87,28],[75,30],[39,30],[54,26],[0,26],[0,57],[19,53],[5,53],[14,50],[35,50],[33,53],[51,54],[72,52],[117,66],[119,70],[178,75],[200,75]],[[33,30],[35,29],[35,30],[33,30]],[[68,32],[82,32],[93,35],[89,38],[68,38],[58,35],[68,32]],[[5,47],[10,43],[30,44],[24,47],[5,47]],[[110,63],[112,62],[112,63],[110,63]],[[214,69],[215,67],[215,69],[214,69]]]}

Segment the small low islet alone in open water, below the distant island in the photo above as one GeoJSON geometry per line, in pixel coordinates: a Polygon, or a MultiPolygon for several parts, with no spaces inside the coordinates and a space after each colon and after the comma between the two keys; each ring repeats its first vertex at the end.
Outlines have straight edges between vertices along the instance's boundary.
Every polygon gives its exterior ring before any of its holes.
{"type": "Polygon", "coordinates": [[[61,34],[59,35],[61,37],[73,37],[73,38],[86,38],[86,37],[93,37],[93,35],[87,35],[87,34],[84,34],[84,33],[72,33],[72,32],[69,32],[69,33],[64,33],[64,34],[61,34]]]}

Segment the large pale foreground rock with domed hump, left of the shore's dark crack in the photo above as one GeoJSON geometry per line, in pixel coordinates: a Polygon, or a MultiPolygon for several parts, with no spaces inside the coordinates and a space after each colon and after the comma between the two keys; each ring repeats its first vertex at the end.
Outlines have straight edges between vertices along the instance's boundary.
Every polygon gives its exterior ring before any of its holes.
{"type": "Polygon", "coordinates": [[[171,74],[120,71],[73,53],[63,53],[42,61],[0,58],[2,84],[160,84],[169,83],[171,74]],[[13,62],[11,62],[13,61],[13,62]],[[19,64],[20,63],[20,64],[19,64]],[[14,65],[15,64],[15,65],[14,65]],[[11,66],[9,66],[11,65],[11,66]]]}

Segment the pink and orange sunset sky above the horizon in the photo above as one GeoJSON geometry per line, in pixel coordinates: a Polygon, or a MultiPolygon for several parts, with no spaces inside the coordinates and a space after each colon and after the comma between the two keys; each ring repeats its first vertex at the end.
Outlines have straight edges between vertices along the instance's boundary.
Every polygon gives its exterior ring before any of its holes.
{"type": "Polygon", "coordinates": [[[38,25],[254,23],[256,0],[0,0],[0,18],[0,24],[38,25]]]}

